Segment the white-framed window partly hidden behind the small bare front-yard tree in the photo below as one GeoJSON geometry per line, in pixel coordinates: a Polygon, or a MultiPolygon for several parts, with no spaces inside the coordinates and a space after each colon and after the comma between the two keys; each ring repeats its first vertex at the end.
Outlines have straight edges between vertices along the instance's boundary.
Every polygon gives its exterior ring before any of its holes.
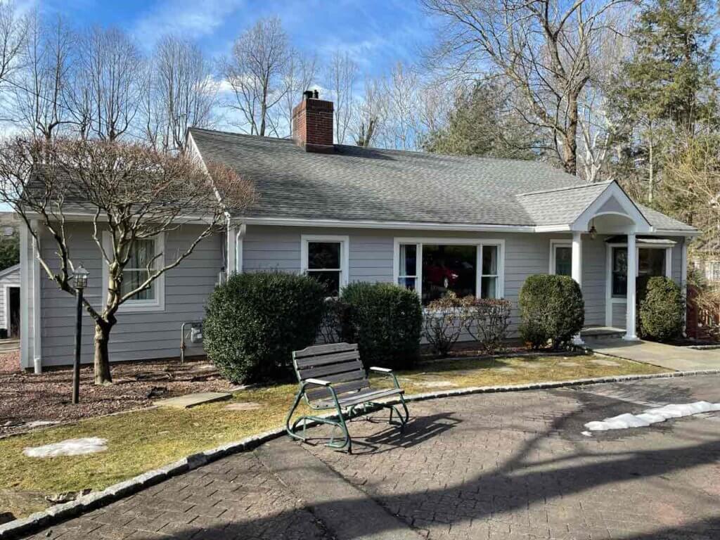
{"type": "MultiPolygon", "coordinates": [[[[103,244],[107,253],[112,251],[112,239],[109,233],[104,233],[103,244]]],[[[165,235],[159,234],[155,238],[135,240],[128,258],[127,265],[122,270],[122,284],[120,292],[127,294],[137,289],[148,279],[151,272],[163,263],[165,252],[165,235]],[[148,264],[150,269],[148,271],[148,264]]],[[[103,289],[107,291],[109,281],[107,263],[103,264],[103,289]]],[[[150,287],[134,294],[121,306],[121,312],[163,311],[165,309],[165,274],[153,280],[150,287]]]]}

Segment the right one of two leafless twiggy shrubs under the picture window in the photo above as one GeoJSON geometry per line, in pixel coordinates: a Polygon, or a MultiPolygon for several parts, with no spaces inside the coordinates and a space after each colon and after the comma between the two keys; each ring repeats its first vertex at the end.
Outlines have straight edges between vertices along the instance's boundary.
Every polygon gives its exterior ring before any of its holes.
{"type": "Polygon", "coordinates": [[[510,326],[510,301],[475,297],[467,297],[463,301],[468,310],[464,321],[467,333],[480,343],[487,354],[502,350],[510,326]]]}

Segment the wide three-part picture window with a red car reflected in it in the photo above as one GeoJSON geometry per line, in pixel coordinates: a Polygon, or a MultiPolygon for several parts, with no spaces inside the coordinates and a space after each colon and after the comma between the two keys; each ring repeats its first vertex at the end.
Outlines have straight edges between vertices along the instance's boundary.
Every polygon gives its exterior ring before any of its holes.
{"type": "Polygon", "coordinates": [[[396,239],[396,282],[417,291],[423,305],[458,297],[501,297],[502,241],[396,239]]]}

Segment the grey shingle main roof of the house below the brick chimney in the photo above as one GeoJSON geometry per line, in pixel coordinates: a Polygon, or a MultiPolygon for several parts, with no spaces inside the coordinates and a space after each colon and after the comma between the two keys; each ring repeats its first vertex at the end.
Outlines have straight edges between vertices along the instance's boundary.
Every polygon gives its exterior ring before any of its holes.
{"type": "MultiPolygon", "coordinates": [[[[206,163],[223,163],[255,183],[259,200],[245,217],[544,225],[577,217],[608,185],[536,161],[350,145],[307,153],[288,139],[190,132],[206,163]]],[[[673,222],[668,228],[683,225],[655,215],[673,222]]]]}

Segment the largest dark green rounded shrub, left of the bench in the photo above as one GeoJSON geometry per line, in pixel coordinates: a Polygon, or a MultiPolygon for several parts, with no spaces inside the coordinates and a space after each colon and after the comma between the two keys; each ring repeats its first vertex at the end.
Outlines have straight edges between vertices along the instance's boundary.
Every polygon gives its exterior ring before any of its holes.
{"type": "Polygon", "coordinates": [[[233,382],[279,379],[292,351],[313,343],[325,290],[315,279],[281,273],[235,274],[210,295],[204,347],[233,382]]]}

